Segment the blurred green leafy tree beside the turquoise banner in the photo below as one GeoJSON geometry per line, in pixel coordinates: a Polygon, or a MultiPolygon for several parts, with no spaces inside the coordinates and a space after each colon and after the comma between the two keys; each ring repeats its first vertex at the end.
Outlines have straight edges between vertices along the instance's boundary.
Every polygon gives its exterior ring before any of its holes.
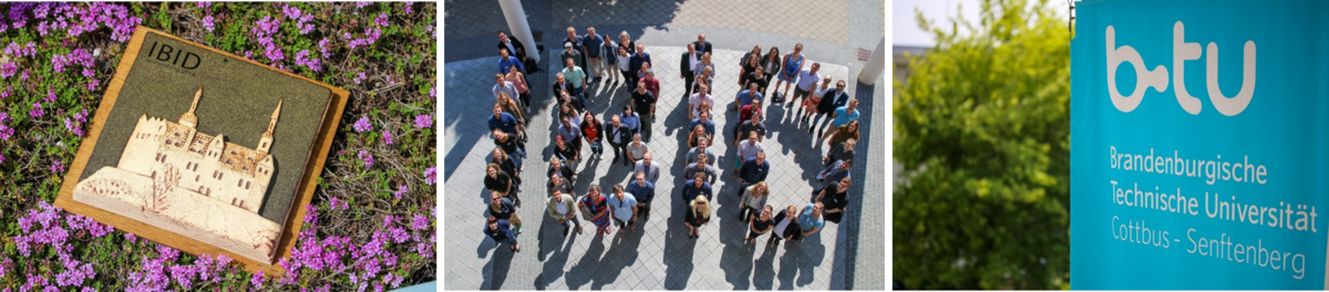
{"type": "Polygon", "coordinates": [[[916,11],[937,46],[890,101],[890,276],[908,287],[1069,284],[1073,32],[1046,4],[985,0],[949,31],[916,11]]]}

